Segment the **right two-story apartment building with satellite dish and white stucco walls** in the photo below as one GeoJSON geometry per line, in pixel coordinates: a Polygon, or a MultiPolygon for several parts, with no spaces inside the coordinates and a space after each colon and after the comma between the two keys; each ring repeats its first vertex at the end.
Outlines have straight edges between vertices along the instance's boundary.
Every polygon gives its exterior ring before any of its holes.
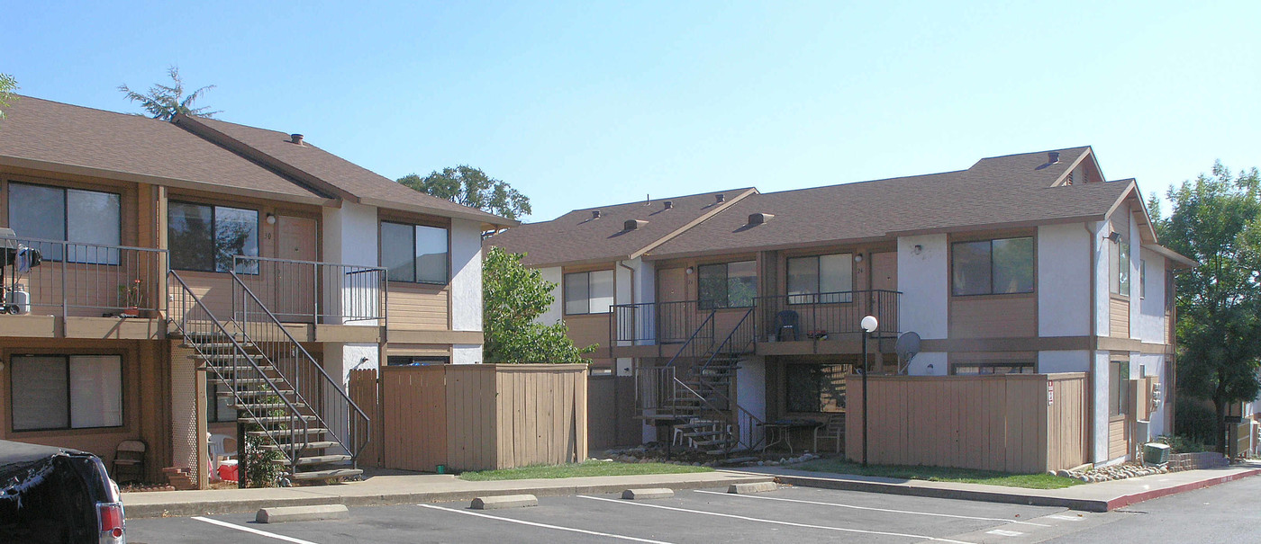
{"type": "Polygon", "coordinates": [[[1092,461],[1131,451],[1140,377],[1166,399],[1144,424],[1171,431],[1170,275],[1194,263],[1159,246],[1137,185],[1105,181],[1090,147],[576,210],[491,243],[557,282],[547,319],[634,375],[641,421],[705,414],[681,436],[644,424],[644,441],[724,452],[767,422],[844,413],[866,315],[871,371],[1090,373],[1092,461]],[[909,360],[907,332],[922,339],[909,360]]]}

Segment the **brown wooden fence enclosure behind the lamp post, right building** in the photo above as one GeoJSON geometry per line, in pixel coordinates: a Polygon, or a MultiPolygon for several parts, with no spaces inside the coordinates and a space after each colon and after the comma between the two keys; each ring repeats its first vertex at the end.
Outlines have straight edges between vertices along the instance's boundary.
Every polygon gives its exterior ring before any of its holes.
{"type": "MultiPolygon", "coordinates": [[[[868,458],[1034,473],[1087,460],[1084,373],[868,378],[868,458]]],[[[863,460],[863,385],[847,377],[845,450],[863,460]]]]}

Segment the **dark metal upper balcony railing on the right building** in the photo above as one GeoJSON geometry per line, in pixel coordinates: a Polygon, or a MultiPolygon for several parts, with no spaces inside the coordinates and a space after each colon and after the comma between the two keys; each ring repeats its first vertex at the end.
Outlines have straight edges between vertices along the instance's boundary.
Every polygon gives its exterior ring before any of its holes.
{"type": "MultiPolygon", "coordinates": [[[[898,291],[868,290],[755,297],[754,337],[759,355],[859,353],[859,321],[879,320],[875,349],[892,350],[900,332],[898,291]],[[888,340],[888,341],[886,341],[888,340]]],[[[699,301],[614,305],[610,324],[612,355],[670,358],[686,345],[683,356],[699,356],[726,337],[749,307],[714,309],[699,301]],[[709,319],[712,314],[712,319],[709,319]],[[687,343],[689,337],[695,339],[687,343]]]]}

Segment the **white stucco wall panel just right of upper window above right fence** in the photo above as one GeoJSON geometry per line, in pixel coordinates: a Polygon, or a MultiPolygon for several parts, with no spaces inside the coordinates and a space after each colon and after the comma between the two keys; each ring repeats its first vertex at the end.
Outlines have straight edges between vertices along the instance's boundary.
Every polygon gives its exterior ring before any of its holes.
{"type": "Polygon", "coordinates": [[[1038,227],[1039,336],[1090,334],[1090,247],[1082,223],[1038,227]]]}

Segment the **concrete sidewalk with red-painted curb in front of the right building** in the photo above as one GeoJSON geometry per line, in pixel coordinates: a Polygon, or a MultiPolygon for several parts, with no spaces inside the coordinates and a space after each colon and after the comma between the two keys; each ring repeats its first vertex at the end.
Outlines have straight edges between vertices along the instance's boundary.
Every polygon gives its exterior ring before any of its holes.
{"type": "Polygon", "coordinates": [[[779,482],[802,487],[870,491],[937,499],[963,499],[989,502],[1062,506],[1105,513],[1135,502],[1194,489],[1208,487],[1261,473],[1261,465],[1243,463],[1222,468],[1193,470],[1151,475],[1101,484],[1082,484],[1058,490],[1035,490],[984,484],[953,484],[927,480],[898,480],[875,476],[796,471],[786,467],[749,467],[750,475],[776,476],[779,482]]]}

